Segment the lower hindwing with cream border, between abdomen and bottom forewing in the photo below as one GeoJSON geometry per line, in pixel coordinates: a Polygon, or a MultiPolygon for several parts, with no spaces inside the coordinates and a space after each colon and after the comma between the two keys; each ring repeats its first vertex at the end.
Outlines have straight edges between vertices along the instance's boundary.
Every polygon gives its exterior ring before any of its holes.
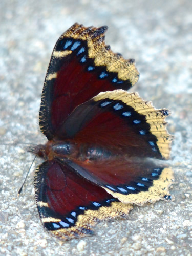
{"type": "Polygon", "coordinates": [[[84,162],[74,159],[68,164],[125,204],[143,205],[171,198],[168,187],[173,182],[172,169],[148,159],[110,157],[84,162]]]}

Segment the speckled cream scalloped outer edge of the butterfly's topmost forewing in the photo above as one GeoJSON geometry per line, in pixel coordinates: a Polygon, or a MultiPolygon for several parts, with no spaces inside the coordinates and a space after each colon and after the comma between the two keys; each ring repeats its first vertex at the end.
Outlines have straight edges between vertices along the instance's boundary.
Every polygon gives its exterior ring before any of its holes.
{"type": "MultiPolygon", "coordinates": [[[[135,67],[135,60],[124,59],[121,54],[113,53],[110,46],[105,45],[104,33],[107,29],[107,26],[100,28],[93,26],[84,27],[75,23],[60,36],[59,40],[64,37],[71,37],[76,40],[87,41],[88,57],[94,59],[96,66],[106,66],[107,71],[117,73],[118,78],[123,81],[130,80],[133,86],[139,79],[139,72],[135,67]]],[[[71,52],[70,50],[67,52],[63,51],[63,54],[66,56],[71,52]]]]}

